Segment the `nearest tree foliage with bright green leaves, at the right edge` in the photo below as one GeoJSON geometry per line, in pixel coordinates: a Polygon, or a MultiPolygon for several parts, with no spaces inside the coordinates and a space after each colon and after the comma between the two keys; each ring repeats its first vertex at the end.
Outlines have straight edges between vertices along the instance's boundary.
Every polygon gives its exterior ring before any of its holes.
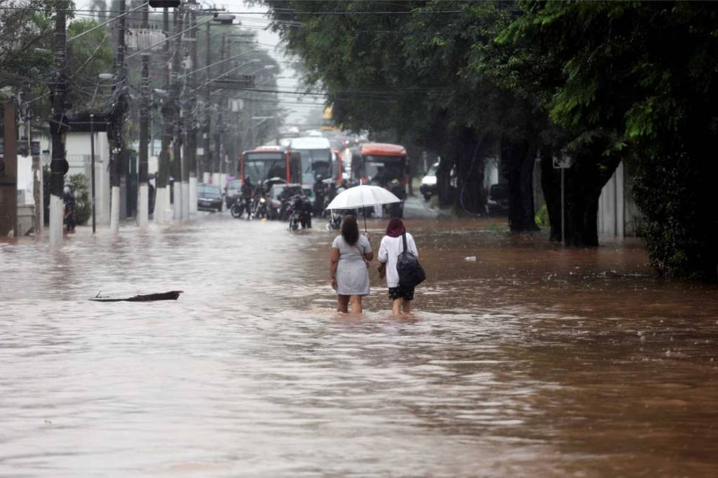
{"type": "Polygon", "coordinates": [[[653,264],[671,275],[715,278],[718,166],[708,154],[718,133],[718,9],[684,1],[526,1],[521,8],[525,14],[500,39],[524,52],[525,66],[538,57],[553,65],[554,73],[515,78],[538,84],[533,89],[567,133],[578,167],[592,169],[575,186],[595,190],[600,182],[591,177],[606,177],[619,159],[635,161],[635,200],[653,264]]]}

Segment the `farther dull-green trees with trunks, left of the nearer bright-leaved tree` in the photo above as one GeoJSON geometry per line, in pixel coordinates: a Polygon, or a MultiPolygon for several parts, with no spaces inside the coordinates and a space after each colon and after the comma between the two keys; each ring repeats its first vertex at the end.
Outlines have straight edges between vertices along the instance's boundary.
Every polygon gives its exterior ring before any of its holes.
{"type": "MultiPolygon", "coordinates": [[[[499,145],[516,150],[508,165],[516,199],[510,224],[532,230],[529,103],[471,67],[472,45],[486,44],[508,13],[500,4],[463,1],[267,1],[275,29],[301,57],[309,85],[324,88],[337,123],[393,131],[406,143],[438,151],[439,198],[457,170],[454,200],[482,210],[483,157],[499,145]],[[498,5],[498,6],[497,6],[498,5]],[[396,13],[387,14],[387,9],[396,13]],[[342,14],[322,14],[339,11],[342,14]],[[518,146],[518,148],[517,148],[518,146]],[[521,151],[521,152],[518,152],[521,151]]],[[[535,148],[533,148],[535,151],[535,148]]]]}

